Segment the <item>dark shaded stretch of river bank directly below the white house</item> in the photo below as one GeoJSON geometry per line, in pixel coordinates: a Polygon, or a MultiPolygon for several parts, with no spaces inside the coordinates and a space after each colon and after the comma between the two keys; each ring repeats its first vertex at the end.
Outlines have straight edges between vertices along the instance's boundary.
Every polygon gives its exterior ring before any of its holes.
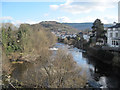
{"type": "Polygon", "coordinates": [[[86,50],[88,56],[95,58],[96,60],[101,61],[102,63],[111,65],[115,68],[120,68],[120,53],[106,51],[102,47],[89,47],[86,50]]]}

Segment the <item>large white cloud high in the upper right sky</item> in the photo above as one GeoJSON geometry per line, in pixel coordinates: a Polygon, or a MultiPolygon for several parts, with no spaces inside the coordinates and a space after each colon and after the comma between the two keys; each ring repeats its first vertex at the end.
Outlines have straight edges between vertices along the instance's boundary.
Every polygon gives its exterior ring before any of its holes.
{"type": "MultiPolygon", "coordinates": [[[[77,0],[78,1],[78,0],[77,0]]],[[[107,8],[114,8],[116,5],[113,2],[109,2],[108,0],[100,0],[99,2],[95,2],[95,0],[87,0],[88,2],[77,2],[76,0],[67,0],[64,4],[59,5],[50,5],[50,8],[53,10],[61,10],[65,12],[69,12],[72,14],[80,14],[80,13],[89,13],[91,11],[105,11],[107,8]],[[89,2],[93,1],[93,2],[89,2]]],[[[117,1],[117,0],[112,0],[117,1]]]]}

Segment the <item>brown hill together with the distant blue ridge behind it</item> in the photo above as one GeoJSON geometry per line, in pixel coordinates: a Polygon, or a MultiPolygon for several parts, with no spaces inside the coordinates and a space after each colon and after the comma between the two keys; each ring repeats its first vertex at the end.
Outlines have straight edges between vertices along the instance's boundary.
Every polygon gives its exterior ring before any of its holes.
{"type": "MultiPolygon", "coordinates": [[[[112,24],[104,24],[104,27],[109,27],[112,24]]],[[[43,21],[38,24],[32,24],[30,27],[33,30],[48,29],[51,31],[67,31],[70,33],[77,33],[83,30],[91,30],[93,23],[59,23],[56,21],[43,21]]]]}

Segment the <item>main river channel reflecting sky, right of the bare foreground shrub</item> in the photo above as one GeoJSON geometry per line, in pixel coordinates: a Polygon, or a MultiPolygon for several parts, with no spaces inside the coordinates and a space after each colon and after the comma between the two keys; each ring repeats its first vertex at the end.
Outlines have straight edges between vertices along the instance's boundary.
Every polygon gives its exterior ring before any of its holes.
{"type": "Polygon", "coordinates": [[[82,70],[86,72],[87,80],[92,87],[120,87],[119,69],[88,57],[82,50],[75,47],[62,43],[56,43],[54,47],[64,49],[72,54],[73,59],[82,67],[82,70]]]}

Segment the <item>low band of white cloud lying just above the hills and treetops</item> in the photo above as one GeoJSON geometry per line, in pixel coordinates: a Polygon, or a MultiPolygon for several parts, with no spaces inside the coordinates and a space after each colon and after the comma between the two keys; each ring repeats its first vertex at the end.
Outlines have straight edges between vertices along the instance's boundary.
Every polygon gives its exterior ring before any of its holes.
{"type": "MultiPolygon", "coordinates": [[[[94,22],[96,19],[100,19],[104,24],[108,24],[108,23],[113,23],[113,22],[117,22],[117,16],[111,16],[111,15],[106,15],[104,17],[93,17],[93,16],[87,16],[85,18],[76,18],[76,19],[71,19],[69,17],[66,16],[62,16],[62,17],[57,17],[56,19],[48,19],[46,21],[57,21],[57,22],[61,22],[61,23],[84,23],[84,22],[94,22]]],[[[4,21],[4,23],[12,23],[16,26],[19,26],[22,23],[28,23],[28,24],[36,24],[39,23],[41,21],[33,21],[33,20],[26,20],[25,22],[20,21],[20,20],[15,20],[12,17],[1,17],[0,21],[4,21]]]]}

